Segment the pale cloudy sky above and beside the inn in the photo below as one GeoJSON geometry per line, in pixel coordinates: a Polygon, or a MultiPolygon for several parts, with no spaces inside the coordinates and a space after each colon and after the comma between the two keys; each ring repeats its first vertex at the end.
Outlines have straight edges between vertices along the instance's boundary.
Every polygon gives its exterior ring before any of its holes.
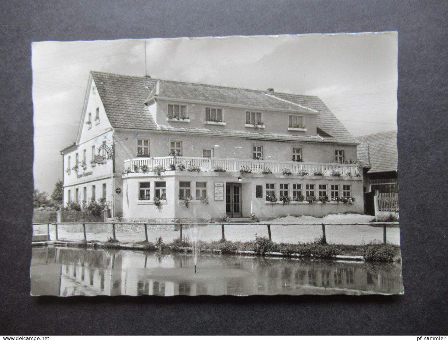
{"type": "Polygon", "coordinates": [[[90,71],[316,95],[353,136],[397,128],[396,32],[34,42],[31,59],[34,188],[49,194],[90,71]]]}

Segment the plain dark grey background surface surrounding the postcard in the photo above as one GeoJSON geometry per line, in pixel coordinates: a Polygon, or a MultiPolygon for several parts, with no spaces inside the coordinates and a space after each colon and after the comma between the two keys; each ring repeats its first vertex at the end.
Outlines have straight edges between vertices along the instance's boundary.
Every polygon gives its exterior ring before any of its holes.
{"type": "Polygon", "coordinates": [[[447,1],[1,1],[0,334],[446,334],[447,18],[447,1]],[[405,295],[29,296],[32,41],[386,30],[399,32],[405,295]]]}

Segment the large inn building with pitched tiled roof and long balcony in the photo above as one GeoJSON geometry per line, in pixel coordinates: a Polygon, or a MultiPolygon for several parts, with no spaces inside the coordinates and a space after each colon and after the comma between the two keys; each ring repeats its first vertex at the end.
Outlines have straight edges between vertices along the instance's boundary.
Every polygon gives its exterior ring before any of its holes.
{"type": "Polygon", "coordinates": [[[362,213],[357,145],[316,96],[91,72],[64,201],[148,221],[362,213]]]}

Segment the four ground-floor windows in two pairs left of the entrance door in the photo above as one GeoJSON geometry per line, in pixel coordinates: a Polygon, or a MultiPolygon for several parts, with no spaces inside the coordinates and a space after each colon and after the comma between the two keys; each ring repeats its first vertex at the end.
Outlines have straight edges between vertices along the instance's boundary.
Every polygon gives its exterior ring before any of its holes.
{"type": "MultiPolygon", "coordinates": [[[[138,184],[139,193],[138,200],[151,200],[151,182],[141,182],[138,184]]],[[[154,181],[154,197],[160,200],[166,200],[166,181],[154,181]]],[[[207,198],[207,182],[206,181],[180,181],[179,182],[179,199],[190,198],[201,200],[207,198]]]]}

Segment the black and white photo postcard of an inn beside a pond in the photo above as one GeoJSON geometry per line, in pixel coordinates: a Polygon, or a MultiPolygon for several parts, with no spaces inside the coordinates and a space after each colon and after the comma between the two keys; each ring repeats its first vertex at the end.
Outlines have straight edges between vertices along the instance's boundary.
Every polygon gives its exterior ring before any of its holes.
{"type": "Polygon", "coordinates": [[[404,294],[397,32],[31,50],[32,296],[404,294]]]}

